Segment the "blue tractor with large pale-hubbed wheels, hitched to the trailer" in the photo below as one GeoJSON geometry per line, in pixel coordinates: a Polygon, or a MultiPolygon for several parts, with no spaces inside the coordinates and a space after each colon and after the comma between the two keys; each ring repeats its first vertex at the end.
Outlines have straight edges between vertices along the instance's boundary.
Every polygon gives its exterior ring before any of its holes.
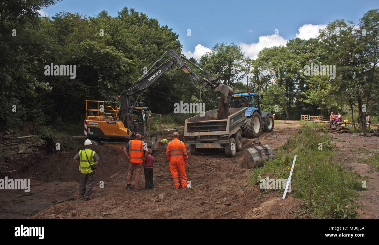
{"type": "Polygon", "coordinates": [[[260,111],[260,98],[263,95],[254,93],[233,94],[229,103],[230,108],[244,108],[245,122],[241,126],[242,135],[246,137],[258,137],[261,131],[271,132],[274,129],[274,117],[270,112],[260,111]]]}

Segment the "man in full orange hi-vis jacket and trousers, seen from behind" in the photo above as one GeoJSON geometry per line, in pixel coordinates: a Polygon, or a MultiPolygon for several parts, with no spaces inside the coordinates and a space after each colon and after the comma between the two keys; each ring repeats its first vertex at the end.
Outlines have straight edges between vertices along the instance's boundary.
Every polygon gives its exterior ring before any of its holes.
{"type": "Polygon", "coordinates": [[[174,139],[171,140],[171,142],[167,145],[166,155],[167,159],[170,160],[170,172],[172,179],[174,180],[175,189],[179,189],[180,183],[178,170],[180,172],[180,181],[182,182],[182,187],[187,186],[186,167],[188,164],[188,156],[184,142],[178,139],[178,132],[175,132],[173,136],[174,139]]]}

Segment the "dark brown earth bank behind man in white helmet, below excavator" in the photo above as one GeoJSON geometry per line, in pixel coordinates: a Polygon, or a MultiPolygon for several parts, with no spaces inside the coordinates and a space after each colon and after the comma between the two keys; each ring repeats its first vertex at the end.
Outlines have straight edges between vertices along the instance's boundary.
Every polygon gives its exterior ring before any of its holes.
{"type": "MultiPolygon", "coordinates": [[[[79,166],[74,156],[79,150],[61,151],[41,158],[31,159],[27,170],[18,172],[17,176],[34,178],[42,181],[78,181],[80,178],[79,166]]],[[[97,178],[107,179],[116,175],[127,167],[127,161],[122,150],[111,146],[92,146],[99,156],[97,178]]]]}

